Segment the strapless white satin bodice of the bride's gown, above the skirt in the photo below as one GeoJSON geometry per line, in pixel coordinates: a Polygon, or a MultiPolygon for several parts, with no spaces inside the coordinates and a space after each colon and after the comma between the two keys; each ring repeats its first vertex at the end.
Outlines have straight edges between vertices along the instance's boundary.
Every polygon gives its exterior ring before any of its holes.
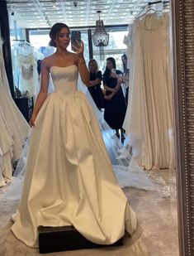
{"type": "Polygon", "coordinates": [[[69,65],[67,67],[52,66],[50,68],[50,75],[54,83],[54,91],[70,94],[77,90],[77,65],[69,65]]]}

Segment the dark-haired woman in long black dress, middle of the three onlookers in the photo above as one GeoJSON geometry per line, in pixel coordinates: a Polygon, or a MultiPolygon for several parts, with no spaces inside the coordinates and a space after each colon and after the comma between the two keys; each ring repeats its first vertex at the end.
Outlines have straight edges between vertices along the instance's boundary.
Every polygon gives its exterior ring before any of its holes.
{"type": "Polygon", "coordinates": [[[125,138],[122,124],[125,118],[126,104],[123,90],[121,88],[122,80],[114,78],[112,75],[122,75],[120,70],[116,70],[116,60],[112,57],[106,59],[106,70],[103,74],[103,85],[105,88],[104,118],[109,126],[116,129],[116,136],[120,138],[119,129],[121,129],[121,139],[125,138]]]}

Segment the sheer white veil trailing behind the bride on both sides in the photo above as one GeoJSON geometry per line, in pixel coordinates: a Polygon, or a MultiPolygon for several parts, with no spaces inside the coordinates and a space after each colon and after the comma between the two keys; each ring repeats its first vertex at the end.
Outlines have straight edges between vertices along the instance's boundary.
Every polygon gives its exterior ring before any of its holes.
{"type": "MultiPolygon", "coordinates": [[[[51,77],[50,77],[51,80],[51,77]]],[[[50,81],[49,91],[52,93],[54,85],[52,80],[50,81]]],[[[86,95],[89,103],[92,105],[92,109],[99,123],[99,127],[102,132],[107,152],[111,150],[111,162],[115,172],[118,184],[121,188],[136,187],[142,190],[157,191],[159,185],[140,167],[135,158],[131,156],[130,151],[123,146],[121,141],[116,137],[114,131],[106,123],[103,118],[102,112],[97,109],[88,88],[83,84],[80,75],[78,75],[78,90],[86,95]],[[110,146],[111,144],[111,146],[110,146]],[[111,147],[111,148],[110,148],[111,147]],[[113,160],[112,160],[113,159],[113,160]]],[[[23,147],[21,158],[17,163],[17,167],[14,171],[12,181],[7,186],[3,187],[3,193],[0,193],[0,200],[18,200],[21,196],[22,183],[26,171],[26,159],[28,154],[29,142],[31,139],[31,131],[29,130],[29,136],[26,139],[25,146],[23,147]]]]}

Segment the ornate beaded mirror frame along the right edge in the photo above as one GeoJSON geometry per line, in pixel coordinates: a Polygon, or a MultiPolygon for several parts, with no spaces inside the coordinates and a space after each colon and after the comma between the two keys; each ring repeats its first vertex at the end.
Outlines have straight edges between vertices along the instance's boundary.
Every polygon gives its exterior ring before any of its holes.
{"type": "Polygon", "coordinates": [[[194,0],[172,0],[180,255],[194,255],[194,0]]]}

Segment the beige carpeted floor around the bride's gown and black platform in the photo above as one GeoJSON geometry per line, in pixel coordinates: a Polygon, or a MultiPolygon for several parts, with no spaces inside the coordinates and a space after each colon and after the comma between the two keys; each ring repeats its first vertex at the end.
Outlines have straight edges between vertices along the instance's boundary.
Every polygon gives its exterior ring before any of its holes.
{"type": "MultiPolygon", "coordinates": [[[[124,189],[135,209],[139,224],[135,234],[125,237],[124,245],[106,249],[85,249],[45,255],[53,256],[177,256],[177,200],[174,171],[152,172],[159,182],[159,191],[144,191],[133,187],[124,189]]],[[[0,191],[0,194],[3,193],[0,191]]],[[[38,249],[21,244],[10,227],[17,200],[0,201],[0,256],[40,255],[38,249]]]]}

